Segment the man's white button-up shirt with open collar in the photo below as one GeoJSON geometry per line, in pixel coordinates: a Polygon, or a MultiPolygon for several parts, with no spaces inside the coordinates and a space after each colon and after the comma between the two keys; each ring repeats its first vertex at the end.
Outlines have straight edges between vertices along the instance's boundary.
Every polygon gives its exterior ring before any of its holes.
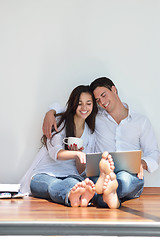
{"type": "MultiPolygon", "coordinates": [[[[158,168],[160,152],[151,123],[144,115],[132,111],[127,104],[128,117],[117,122],[105,111],[99,109],[96,116],[96,147],[95,152],[113,152],[142,150],[142,159],[148,166],[148,171],[153,172],[158,168]]],[[[60,105],[53,104],[49,109],[62,112],[60,105]]]]}

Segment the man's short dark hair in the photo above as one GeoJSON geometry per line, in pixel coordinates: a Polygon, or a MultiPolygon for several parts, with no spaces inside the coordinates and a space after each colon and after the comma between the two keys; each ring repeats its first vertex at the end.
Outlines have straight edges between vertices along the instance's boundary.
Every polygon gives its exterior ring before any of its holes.
{"type": "Polygon", "coordinates": [[[97,78],[90,84],[90,88],[92,91],[94,91],[97,87],[106,87],[111,91],[112,86],[115,86],[114,83],[111,79],[106,77],[97,78]]]}

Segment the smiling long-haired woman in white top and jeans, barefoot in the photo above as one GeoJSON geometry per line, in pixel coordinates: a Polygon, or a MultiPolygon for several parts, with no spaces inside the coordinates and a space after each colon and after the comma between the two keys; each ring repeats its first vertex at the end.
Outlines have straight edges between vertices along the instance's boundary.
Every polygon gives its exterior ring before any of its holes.
{"type": "Polygon", "coordinates": [[[67,206],[87,206],[95,193],[95,186],[80,175],[85,153],[94,152],[95,116],[97,105],[89,86],[76,87],[67,102],[66,111],[57,115],[58,132],[52,138],[42,137],[43,147],[21,181],[21,191],[29,186],[33,196],[51,199],[67,206]],[[83,139],[82,151],[63,146],[65,137],[83,139]],[[78,166],[78,170],[77,167],[78,166]]]}

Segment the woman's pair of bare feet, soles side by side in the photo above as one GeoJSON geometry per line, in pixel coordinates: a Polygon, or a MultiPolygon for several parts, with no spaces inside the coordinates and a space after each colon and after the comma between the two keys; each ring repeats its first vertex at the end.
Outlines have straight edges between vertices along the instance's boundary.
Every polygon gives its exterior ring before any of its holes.
{"type": "Polygon", "coordinates": [[[87,207],[94,194],[94,183],[89,178],[86,178],[71,189],[68,198],[72,207],[87,207]]]}

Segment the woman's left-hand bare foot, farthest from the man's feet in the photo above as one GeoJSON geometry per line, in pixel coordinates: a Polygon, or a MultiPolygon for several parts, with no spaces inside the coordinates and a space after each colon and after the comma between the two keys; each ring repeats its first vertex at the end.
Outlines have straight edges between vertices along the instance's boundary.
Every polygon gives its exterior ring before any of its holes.
{"type": "Polygon", "coordinates": [[[71,207],[79,207],[81,204],[81,195],[85,192],[86,183],[78,182],[69,192],[68,199],[71,207]]]}

